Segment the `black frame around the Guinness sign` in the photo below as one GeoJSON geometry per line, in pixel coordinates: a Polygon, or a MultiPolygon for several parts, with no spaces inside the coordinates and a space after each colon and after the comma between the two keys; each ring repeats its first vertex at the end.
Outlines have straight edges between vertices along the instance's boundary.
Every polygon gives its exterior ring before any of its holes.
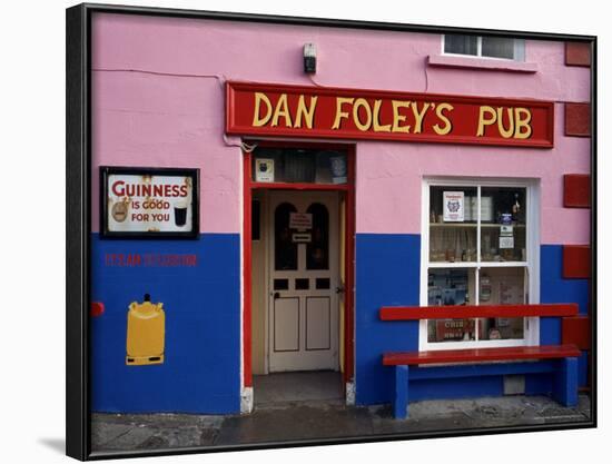
{"type": "Polygon", "coordinates": [[[100,166],[100,235],[103,238],[197,239],[199,237],[199,169],[100,166]],[[111,175],[189,177],[191,179],[191,227],[188,231],[115,231],[108,225],[108,179],[111,175]]]}

